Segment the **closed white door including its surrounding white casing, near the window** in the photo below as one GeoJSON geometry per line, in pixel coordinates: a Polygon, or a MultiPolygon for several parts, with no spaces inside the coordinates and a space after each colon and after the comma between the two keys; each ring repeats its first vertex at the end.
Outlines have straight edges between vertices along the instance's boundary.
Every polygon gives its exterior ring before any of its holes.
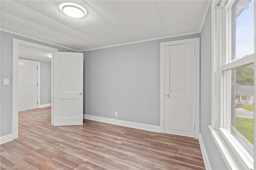
{"type": "Polygon", "coordinates": [[[199,38],[161,43],[161,132],[199,137],[199,38]]]}

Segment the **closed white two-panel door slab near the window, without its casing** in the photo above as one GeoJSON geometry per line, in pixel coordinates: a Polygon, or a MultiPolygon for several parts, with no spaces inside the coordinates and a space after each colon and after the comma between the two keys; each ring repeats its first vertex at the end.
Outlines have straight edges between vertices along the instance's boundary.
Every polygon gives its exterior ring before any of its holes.
{"type": "Polygon", "coordinates": [[[194,43],[164,47],[164,132],[194,137],[194,43]]]}

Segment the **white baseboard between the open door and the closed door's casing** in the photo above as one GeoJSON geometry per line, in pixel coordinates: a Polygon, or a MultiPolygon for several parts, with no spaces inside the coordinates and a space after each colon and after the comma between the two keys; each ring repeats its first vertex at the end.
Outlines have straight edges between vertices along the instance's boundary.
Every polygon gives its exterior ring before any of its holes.
{"type": "Polygon", "coordinates": [[[121,121],[118,119],[109,119],[109,118],[85,115],[85,114],[84,114],[84,119],[89,119],[92,121],[98,121],[98,122],[104,122],[104,123],[110,123],[110,124],[120,125],[120,126],[124,126],[124,127],[138,128],[138,129],[148,130],[148,131],[152,131],[152,132],[160,132],[160,127],[154,126],[154,125],[147,125],[147,124],[143,124],[143,123],[121,121]]]}

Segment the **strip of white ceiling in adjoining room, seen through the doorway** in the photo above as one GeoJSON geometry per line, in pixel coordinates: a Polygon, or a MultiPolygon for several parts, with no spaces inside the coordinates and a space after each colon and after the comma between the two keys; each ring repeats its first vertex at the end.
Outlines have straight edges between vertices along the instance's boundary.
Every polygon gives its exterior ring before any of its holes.
{"type": "Polygon", "coordinates": [[[19,45],[19,57],[52,61],[52,58],[48,57],[47,54],[52,54],[52,52],[26,45],[19,45]]]}

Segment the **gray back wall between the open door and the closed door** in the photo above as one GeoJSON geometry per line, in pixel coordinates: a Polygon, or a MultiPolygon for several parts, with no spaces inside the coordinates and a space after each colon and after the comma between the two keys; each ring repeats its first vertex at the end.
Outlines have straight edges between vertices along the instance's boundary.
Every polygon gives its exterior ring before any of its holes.
{"type": "Polygon", "coordinates": [[[199,36],[85,51],[84,113],[160,126],[160,43],[199,36]]]}

